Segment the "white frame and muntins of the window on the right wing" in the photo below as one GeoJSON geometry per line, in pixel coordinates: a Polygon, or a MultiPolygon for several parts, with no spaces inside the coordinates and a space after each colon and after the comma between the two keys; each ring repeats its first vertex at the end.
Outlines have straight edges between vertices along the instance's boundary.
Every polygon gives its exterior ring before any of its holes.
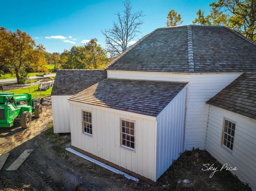
{"type": "Polygon", "coordinates": [[[225,149],[228,149],[228,151],[230,152],[233,152],[233,149],[234,149],[234,143],[235,143],[235,134],[236,134],[236,122],[231,120],[231,119],[228,119],[226,117],[223,118],[223,126],[222,126],[222,133],[221,133],[221,146],[223,146],[225,149]],[[228,133],[228,126],[225,125],[225,121],[228,121],[228,123],[230,122],[231,123],[231,130],[230,130],[230,134],[228,133]],[[235,129],[232,129],[232,124],[235,124],[235,129]],[[227,132],[225,132],[225,127],[227,127],[227,132]],[[232,131],[234,131],[234,136],[232,135],[232,131]],[[224,136],[225,134],[227,134],[227,136],[231,136],[230,138],[230,141],[228,141],[228,139],[225,139],[224,136]],[[233,143],[231,142],[233,138],[233,143]],[[224,139],[230,143],[229,147],[227,147],[225,144],[224,144],[224,139]],[[231,144],[233,144],[233,147],[232,149],[230,149],[230,146],[231,144]]]}

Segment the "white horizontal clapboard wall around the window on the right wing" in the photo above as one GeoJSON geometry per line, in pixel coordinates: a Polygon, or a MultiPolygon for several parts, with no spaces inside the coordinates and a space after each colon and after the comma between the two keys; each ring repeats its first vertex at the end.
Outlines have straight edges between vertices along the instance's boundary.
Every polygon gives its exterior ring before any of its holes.
{"type": "Polygon", "coordinates": [[[256,120],[210,105],[205,150],[221,164],[236,166],[231,172],[256,190],[256,120]],[[232,153],[221,146],[224,117],[236,122],[232,153]]]}

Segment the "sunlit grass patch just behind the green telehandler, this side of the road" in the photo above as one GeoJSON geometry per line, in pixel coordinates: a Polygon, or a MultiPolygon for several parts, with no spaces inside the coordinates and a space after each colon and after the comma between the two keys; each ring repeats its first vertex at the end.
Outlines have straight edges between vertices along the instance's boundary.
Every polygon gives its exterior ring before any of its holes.
{"type": "Polygon", "coordinates": [[[30,93],[32,94],[33,99],[38,99],[41,97],[46,97],[51,95],[52,92],[52,87],[50,87],[48,90],[46,91],[36,91],[38,88],[38,84],[35,86],[29,86],[26,88],[19,88],[19,89],[14,89],[14,90],[10,90],[10,91],[6,91],[8,93],[14,93],[14,94],[23,94],[23,93],[30,93]]]}

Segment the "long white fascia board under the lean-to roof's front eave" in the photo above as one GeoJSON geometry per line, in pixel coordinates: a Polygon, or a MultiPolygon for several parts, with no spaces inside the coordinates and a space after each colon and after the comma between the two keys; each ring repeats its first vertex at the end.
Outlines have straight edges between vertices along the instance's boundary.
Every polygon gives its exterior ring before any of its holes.
{"type": "Polygon", "coordinates": [[[101,109],[103,111],[119,113],[119,114],[122,114],[122,115],[130,115],[132,117],[148,119],[148,120],[151,120],[151,121],[156,121],[156,117],[150,116],[150,115],[143,115],[143,114],[133,113],[133,112],[129,112],[129,111],[123,111],[123,110],[119,110],[119,109],[112,109],[112,108],[109,108],[109,107],[95,106],[95,105],[81,103],[81,102],[76,102],[76,101],[71,101],[71,100],[68,100],[68,103],[69,104],[78,105],[78,106],[84,106],[84,107],[91,107],[91,108],[95,108],[95,109],[101,109]]]}

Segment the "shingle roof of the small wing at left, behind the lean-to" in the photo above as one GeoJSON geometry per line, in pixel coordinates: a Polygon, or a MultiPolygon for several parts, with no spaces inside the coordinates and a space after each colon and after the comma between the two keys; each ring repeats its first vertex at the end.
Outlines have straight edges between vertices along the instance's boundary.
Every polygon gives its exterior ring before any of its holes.
{"type": "Polygon", "coordinates": [[[107,70],[57,70],[51,95],[75,95],[107,78],[107,70]]]}

